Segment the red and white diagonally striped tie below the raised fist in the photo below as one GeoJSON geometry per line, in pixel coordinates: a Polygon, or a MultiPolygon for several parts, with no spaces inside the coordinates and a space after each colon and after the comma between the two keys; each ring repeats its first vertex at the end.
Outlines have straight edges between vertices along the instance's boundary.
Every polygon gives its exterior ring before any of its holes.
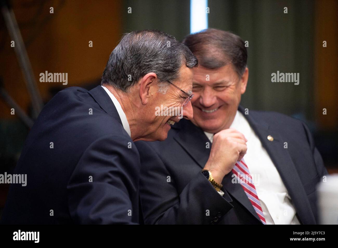
{"type": "Polygon", "coordinates": [[[236,175],[236,177],[238,177],[238,174],[240,175],[239,181],[241,182],[245,194],[249,198],[252,206],[254,206],[254,209],[258,214],[258,217],[261,219],[262,223],[266,225],[263,210],[256,192],[254,182],[252,181],[249,169],[244,163],[243,159],[240,162],[236,163],[236,165],[232,169],[232,172],[236,175]]]}

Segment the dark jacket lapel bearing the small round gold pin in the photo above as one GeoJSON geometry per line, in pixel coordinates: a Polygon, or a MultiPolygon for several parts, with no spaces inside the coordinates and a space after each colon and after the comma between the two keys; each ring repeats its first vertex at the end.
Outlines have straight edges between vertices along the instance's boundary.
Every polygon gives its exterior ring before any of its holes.
{"type": "Polygon", "coordinates": [[[244,114],[243,108],[240,106],[239,110],[243,113],[244,117],[249,122],[256,135],[259,137],[263,147],[269,154],[273,164],[279,172],[282,181],[288,190],[288,193],[292,199],[292,203],[295,206],[299,219],[303,224],[314,224],[315,217],[312,213],[309,199],[301,183],[300,177],[296,170],[296,167],[288,153],[284,148],[284,140],[279,135],[279,132],[273,130],[265,122],[258,122],[249,115],[244,114]],[[273,141],[268,140],[268,136],[273,137],[273,141]]]}

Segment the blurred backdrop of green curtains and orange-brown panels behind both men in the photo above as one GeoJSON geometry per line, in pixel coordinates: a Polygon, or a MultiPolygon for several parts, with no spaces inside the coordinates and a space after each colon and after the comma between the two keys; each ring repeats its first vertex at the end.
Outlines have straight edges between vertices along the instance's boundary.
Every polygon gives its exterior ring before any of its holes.
{"type": "MultiPolygon", "coordinates": [[[[44,103],[59,90],[100,83],[123,33],[160,29],[178,40],[190,33],[190,0],[11,1],[44,103]],[[50,13],[50,7],[54,13],[50,13]],[[131,13],[128,13],[131,7],[131,13]],[[93,47],[89,47],[89,41],[93,47]],[[45,71],[68,84],[41,83],[45,71]]],[[[304,120],[329,173],[338,172],[338,1],[209,0],[208,25],[249,42],[249,81],[241,105],[304,120]],[[284,13],[284,7],[288,13],[284,13]],[[323,47],[323,41],[327,47],[323,47]],[[271,73],[299,73],[300,83],[271,83],[271,73]],[[323,108],[327,114],[323,115],[323,108]]],[[[0,18],[1,88],[32,116],[20,65],[0,18]]],[[[0,97],[0,173],[12,173],[29,128],[0,97]]],[[[292,127],[290,127],[292,128],[292,127]]],[[[8,184],[0,184],[0,215],[8,184]]]]}

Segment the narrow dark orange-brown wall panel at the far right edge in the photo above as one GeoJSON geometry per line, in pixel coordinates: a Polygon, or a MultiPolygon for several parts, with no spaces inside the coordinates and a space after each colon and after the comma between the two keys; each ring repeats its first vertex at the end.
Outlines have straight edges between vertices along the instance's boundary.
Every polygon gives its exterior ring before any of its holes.
{"type": "Polygon", "coordinates": [[[315,1],[315,105],[322,130],[338,127],[338,1],[315,1]],[[323,41],[327,47],[323,47],[323,41]],[[327,115],[323,115],[323,108],[327,115]]]}

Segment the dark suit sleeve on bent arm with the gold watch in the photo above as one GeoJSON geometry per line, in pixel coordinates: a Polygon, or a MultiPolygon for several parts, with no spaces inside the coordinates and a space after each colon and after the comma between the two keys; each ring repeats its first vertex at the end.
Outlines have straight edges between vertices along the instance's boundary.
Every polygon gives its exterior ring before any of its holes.
{"type": "Polygon", "coordinates": [[[233,208],[230,196],[222,197],[201,172],[179,194],[161,157],[146,142],[138,150],[145,224],[213,224],[233,208]]]}

